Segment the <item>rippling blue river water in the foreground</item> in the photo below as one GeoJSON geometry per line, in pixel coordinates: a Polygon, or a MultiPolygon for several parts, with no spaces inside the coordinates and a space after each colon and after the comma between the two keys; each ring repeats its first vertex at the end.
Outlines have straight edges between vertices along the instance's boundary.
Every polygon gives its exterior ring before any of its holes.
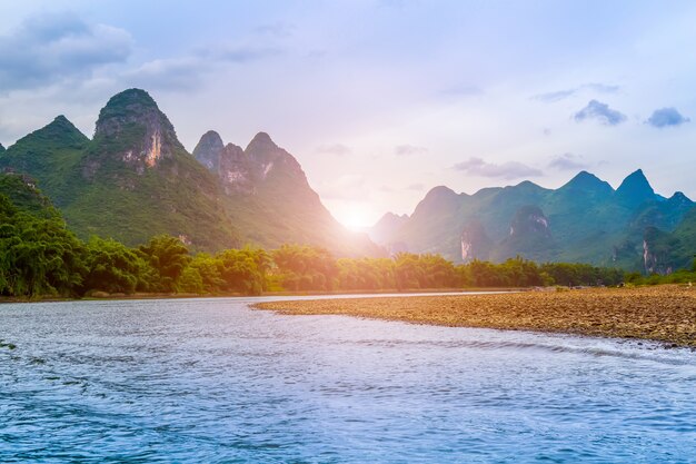
{"type": "Polygon", "coordinates": [[[252,300],[0,306],[0,462],[696,462],[695,352],[252,300]]]}

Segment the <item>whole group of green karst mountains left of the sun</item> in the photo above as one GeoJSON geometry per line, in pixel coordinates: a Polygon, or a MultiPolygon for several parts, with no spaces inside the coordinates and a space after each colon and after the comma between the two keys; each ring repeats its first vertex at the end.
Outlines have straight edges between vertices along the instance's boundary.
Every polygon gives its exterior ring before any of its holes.
{"type": "Polygon", "coordinates": [[[143,90],[112,97],[93,138],[57,117],[7,149],[0,170],[29,175],[82,238],[138,245],[170,234],[195,249],[312,244],[339,256],[384,251],[321,205],[297,160],[267,134],[246,149],[207,132],[195,155],[143,90]]]}

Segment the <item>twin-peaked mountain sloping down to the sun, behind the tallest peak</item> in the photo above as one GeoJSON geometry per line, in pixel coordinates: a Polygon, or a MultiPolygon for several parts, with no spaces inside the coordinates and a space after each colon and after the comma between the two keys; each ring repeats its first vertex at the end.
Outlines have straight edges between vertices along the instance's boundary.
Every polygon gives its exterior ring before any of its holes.
{"type": "Polygon", "coordinates": [[[324,207],[297,159],[266,132],[245,149],[206,132],[193,156],[217,178],[227,210],[247,241],[265,247],[286,243],[324,246],[339,255],[380,255],[366,234],[348,231],[324,207]]]}

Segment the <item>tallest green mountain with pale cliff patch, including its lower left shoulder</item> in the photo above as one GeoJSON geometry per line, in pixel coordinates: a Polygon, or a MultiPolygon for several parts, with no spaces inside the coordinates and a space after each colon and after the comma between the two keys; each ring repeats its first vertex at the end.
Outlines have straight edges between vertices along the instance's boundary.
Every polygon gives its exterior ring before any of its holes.
{"type": "Polygon", "coordinates": [[[137,245],[166,233],[199,249],[240,244],[217,179],[143,90],[112,97],[92,140],[59,116],[9,147],[0,167],[36,178],[82,238],[137,245]]]}

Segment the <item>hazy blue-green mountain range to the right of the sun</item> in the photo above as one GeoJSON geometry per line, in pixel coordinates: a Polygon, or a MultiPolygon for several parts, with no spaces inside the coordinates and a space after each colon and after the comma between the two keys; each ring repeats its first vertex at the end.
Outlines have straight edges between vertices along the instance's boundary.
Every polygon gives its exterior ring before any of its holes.
{"type": "Polygon", "coordinates": [[[386,214],[370,237],[390,250],[455,261],[579,261],[647,273],[690,267],[696,210],[682,192],[655,194],[640,169],[614,190],[581,171],[563,187],[530,181],[474,195],[435,187],[414,214],[386,214]]]}

